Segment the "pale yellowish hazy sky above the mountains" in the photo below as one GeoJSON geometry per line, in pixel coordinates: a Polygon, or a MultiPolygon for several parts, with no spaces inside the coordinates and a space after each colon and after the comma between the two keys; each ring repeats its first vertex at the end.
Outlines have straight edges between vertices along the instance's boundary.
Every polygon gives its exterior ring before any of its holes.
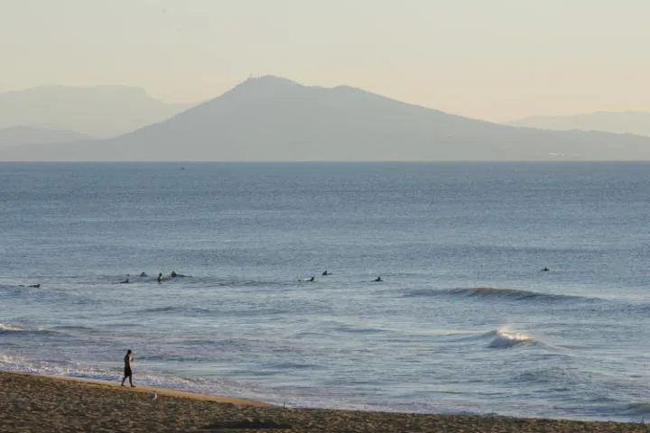
{"type": "Polygon", "coordinates": [[[0,0],[0,92],[195,102],[257,73],[495,121],[650,110],[648,19],[647,0],[0,0]]]}

